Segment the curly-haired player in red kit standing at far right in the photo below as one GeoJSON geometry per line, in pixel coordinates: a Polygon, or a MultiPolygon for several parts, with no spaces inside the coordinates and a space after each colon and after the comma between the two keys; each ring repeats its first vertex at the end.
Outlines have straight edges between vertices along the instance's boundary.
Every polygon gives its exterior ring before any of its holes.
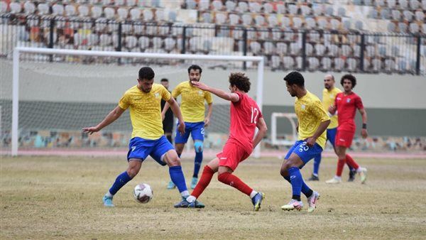
{"type": "Polygon", "coordinates": [[[339,113],[337,115],[337,121],[339,126],[337,127],[337,135],[335,140],[336,145],[336,154],[339,158],[337,162],[337,170],[334,178],[327,180],[327,183],[340,183],[342,182],[342,170],[344,164],[347,163],[351,168],[356,169],[356,173],[359,173],[361,177],[361,183],[366,182],[366,168],[361,168],[354,159],[349,155],[346,155],[346,148],[351,146],[352,140],[354,139],[356,125],[355,125],[355,114],[356,109],[359,110],[359,113],[362,116],[362,129],[361,136],[366,138],[368,136],[367,132],[367,112],[364,109],[362,104],[361,97],[352,92],[356,85],[356,78],[353,75],[344,75],[340,80],[344,88],[344,92],[340,92],[336,95],[334,105],[329,107],[330,114],[335,114],[336,111],[339,113]],[[348,157],[349,156],[349,157],[348,157]]]}

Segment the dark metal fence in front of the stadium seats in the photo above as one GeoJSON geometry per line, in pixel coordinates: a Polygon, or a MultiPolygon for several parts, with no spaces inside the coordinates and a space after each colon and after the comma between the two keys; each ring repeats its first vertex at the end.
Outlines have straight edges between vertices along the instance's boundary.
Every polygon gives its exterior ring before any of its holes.
{"type": "MultiPolygon", "coordinates": [[[[1,58],[11,58],[13,48],[20,45],[148,53],[262,55],[266,67],[271,70],[426,74],[424,35],[293,31],[11,14],[1,16],[0,32],[1,58]]],[[[37,60],[74,61],[75,58],[43,56],[37,60]]],[[[110,61],[126,64],[138,60],[110,61]]],[[[176,62],[149,61],[158,64],[176,62]]],[[[244,62],[234,67],[252,66],[244,62]]]]}

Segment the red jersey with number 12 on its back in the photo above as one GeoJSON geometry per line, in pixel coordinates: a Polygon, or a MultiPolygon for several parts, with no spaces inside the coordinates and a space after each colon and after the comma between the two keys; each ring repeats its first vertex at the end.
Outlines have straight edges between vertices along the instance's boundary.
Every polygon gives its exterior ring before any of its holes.
{"type": "Polygon", "coordinates": [[[261,110],[249,95],[235,92],[239,101],[231,102],[231,127],[229,139],[247,153],[253,151],[253,136],[258,119],[263,118],[261,110]]]}

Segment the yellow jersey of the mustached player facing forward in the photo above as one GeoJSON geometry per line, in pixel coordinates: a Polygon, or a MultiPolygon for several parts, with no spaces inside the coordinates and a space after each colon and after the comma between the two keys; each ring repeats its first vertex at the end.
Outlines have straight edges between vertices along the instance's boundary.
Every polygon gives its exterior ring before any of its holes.
{"type": "Polygon", "coordinates": [[[207,104],[213,102],[212,94],[210,92],[193,87],[190,81],[181,82],[173,89],[172,96],[177,98],[182,95],[180,101],[180,111],[182,111],[183,121],[189,123],[197,123],[204,121],[204,100],[207,104]]]}

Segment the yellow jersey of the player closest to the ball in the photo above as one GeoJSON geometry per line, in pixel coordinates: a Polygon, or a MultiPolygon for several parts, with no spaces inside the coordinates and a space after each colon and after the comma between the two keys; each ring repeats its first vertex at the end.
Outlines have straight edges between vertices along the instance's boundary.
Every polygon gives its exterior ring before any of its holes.
{"type": "Polygon", "coordinates": [[[170,92],[161,84],[153,84],[151,92],[143,92],[138,86],[128,89],[119,102],[121,109],[130,107],[133,131],[131,138],[155,140],[164,135],[161,119],[161,99],[168,101],[170,92]]]}

